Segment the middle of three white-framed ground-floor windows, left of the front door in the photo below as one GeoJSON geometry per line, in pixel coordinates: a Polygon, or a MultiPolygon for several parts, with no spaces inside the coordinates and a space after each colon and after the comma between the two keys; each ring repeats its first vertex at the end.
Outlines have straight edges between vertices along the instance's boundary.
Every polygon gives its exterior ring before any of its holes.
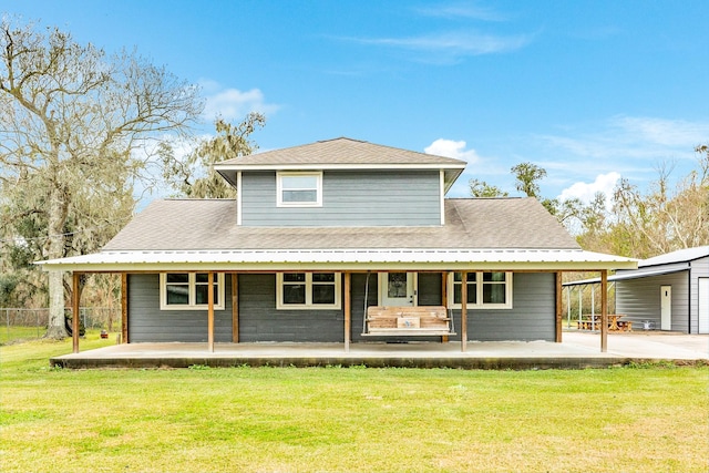
{"type": "Polygon", "coordinates": [[[276,308],[339,309],[340,275],[336,273],[279,273],[276,308]]]}

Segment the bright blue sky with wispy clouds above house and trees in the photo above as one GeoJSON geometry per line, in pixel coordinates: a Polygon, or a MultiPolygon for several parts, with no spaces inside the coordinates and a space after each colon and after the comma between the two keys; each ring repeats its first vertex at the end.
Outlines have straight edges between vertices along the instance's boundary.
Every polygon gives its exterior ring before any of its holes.
{"type": "Polygon", "coordinates": [[[544,167],[547,197],[619,176],[679,178],[709,142],[709,1],[49,1],[4,13],[106,51],[136,48],[199,83],[215,113],[267,116],[261,150],[349,136],[469,162],[511,195],[544,167]]]}

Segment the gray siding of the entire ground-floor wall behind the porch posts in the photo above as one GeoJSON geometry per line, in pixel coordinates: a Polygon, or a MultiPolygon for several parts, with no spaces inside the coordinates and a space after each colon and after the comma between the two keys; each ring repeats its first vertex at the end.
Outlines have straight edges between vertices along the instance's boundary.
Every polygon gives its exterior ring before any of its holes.
{"type": "MultiPolygon", "coordinates": [[[[225,309],[215,310],[215,341],[232,341],[230,275],[226,275],[225,309]]],[[[343,342],[343,310],[277,310],[276,275],[239,275],[239,340],[243,342],[343,342]]],[[[409,341],[408,337],[363,337],[364,294],[367,307],[378,302],[378,277],[351,276],[351,340],[354,342],[409,341]],[[366,290],[366,287],[369,287],[366,290]]],[[[553,274],[515,274],[513,309],[470,310],[470,340],[549,340],[555,337],[553,274]]],[[[440,306],[442,275],[421,273],[418,277],[419,306],[440,306]]],[[[131,342],[206,342],[205,311],[160,310],[158,275],[129,276],[129,331],[131,342]]],[[[456,336],[461,338],[460,310],[451,310],[456,336]]],[[[440,341],[440,337],[417,337],[440,341]]]]}

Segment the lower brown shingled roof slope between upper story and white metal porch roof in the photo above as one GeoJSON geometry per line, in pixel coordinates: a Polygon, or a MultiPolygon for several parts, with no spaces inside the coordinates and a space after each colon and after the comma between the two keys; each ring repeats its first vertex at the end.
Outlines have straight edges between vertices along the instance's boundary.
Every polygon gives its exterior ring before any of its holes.
{"type": "Polygon", "coordinates": [[[103,250],[579,249],[534,198],[446,199],[433,227],[240,227],[236,213],[235,200],[156,200],[103,250]]]}

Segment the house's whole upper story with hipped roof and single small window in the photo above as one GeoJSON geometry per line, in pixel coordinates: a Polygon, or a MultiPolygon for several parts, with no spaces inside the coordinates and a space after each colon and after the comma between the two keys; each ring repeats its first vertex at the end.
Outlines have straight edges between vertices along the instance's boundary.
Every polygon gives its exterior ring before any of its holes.
{"type": "Polygon", "coordinates": [[[341,137],[215,168],[237,189],[239,226],[440,226],[465,162],[341,137]]]}

